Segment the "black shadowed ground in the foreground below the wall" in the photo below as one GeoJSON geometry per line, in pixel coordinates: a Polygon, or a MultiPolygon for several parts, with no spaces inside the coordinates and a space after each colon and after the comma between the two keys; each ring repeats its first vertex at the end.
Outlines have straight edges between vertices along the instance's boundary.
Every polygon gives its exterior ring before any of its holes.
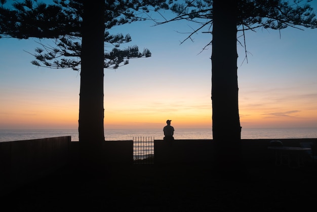
{"type": "Polygon", "coordinates": [[[2,211],[316,211],[317,169],[247,165],[222,178],[208,164],[64,168],[1,199],[2,211]],[[7,208],[7,209],[6,209],[7,208]]]}

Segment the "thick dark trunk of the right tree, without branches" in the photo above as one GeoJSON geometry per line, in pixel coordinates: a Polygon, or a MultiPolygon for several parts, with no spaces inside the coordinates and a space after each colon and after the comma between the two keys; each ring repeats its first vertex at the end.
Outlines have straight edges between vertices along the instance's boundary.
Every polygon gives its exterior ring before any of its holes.
{"type": "Polygon", "coordinates": [[[233,168],[240,158],[236,14],[236,1],[214,0],[211,57],[213,140],[217,164],[225,169],[233,168]]]}

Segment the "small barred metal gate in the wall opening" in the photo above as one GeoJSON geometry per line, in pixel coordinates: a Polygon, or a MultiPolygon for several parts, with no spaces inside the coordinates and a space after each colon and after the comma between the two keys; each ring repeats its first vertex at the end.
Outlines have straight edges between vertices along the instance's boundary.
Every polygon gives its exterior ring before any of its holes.
{"type": "Polygon", "coordinates": [[[133,163],[154,163],[154,137],[133,137],[133,163]]]}

